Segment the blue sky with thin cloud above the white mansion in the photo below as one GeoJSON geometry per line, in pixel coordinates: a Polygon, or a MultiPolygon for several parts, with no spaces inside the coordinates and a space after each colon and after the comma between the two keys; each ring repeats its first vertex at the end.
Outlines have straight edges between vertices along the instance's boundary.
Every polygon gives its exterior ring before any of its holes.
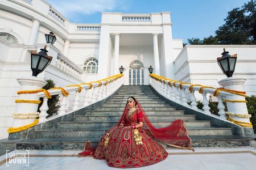
{"type": "Polygon", "coordinates": [[[228,11],[249,0],[46,0],[72,23],[101,23],[101,12],[171,12],[172,37],[203,39],[224,24],[228,11]]]}

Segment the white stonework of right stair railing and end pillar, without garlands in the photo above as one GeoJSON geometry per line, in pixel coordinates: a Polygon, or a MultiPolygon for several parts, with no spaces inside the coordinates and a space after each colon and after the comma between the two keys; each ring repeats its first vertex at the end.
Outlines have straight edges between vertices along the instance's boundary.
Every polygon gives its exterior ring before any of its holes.
{"type": "MultiPolygon", "coordinates": [[[[163,79],[161,79],[163,80],[163,79]]],[[[244,79],[237,79],[237,78],[228,78],[228,79],[224,79],[221,80],[220,83],[222,83],[221,85],[224,88],[230,89],[230,90],[238,90],[238,91],[242,91],[242,84],[245,82],[244,79]],[[235,82],[235,83],[234,83],[235,82]],[[238,83],[236,83],[238,82],[238,83]],[[235,86],[234,84],[238,84],[236,86],[236,88],[232,88],[232,86],[235,86]]],[[[203,90],[201,91],[201,95],[203,96],[203,110],[199,110],[197,108],[197,99],[195,96],[195,92],[199,92],[200,88],[202,86],[196,86],[193,85],[191,92],[187,92],[189,91],[189,87],[191,87],[191,84],[186,84],[186,83],[182,83],[181,84],[181,89],[180,89],[180,84],[181,82],[175,82],[175,87],[174,85],[174,81],[170,81],[170,80],[164,80],[164,82],[161,82],[160,80],[156,80],[151,78],[150,79],[150,85],[159,92],[159,94],[167,97],[167,99],[170,99],[172,101],[175,101],[176,103],[179,103],[181,105],[184,105],[185,107],[191,108],[191,109],[195,109],[196,111],[200,111],[200,112],[204,112],[205,114],[211,115],[212,113],[210,113],[210,107],[209,107],[209,101],[207,99],[207,95],[213,96],[214,92],[216,91],[216,88],[209,88],[209,87],[204,87],[203,90]],[[169,84],[170,86],[169,86],[169,84]],[[189,102],[190,105],[188,104],[189,102]]],[[[218,95],[216,96],[217,100],[218,100],[218,105],[217,108],[219,109],[218,114],[220,115],[220,118],[222,120],[226,120],[226,112],[225,112],[225,105],[223,103],[223,100],[245,100],[245,97],[240,96],[240,95],[236,95],[236,94],[232,94],[230,92],[226,92],[226,91],[219,91],[218,95]]],[[[247,109],[246,109],[246,105],[245,103],[232,103],[229,102],[227,103],[227,108],[228,108],[228,112],[232,112],[235,114],[239,114],[239,113],[244,113],[244,114],[248,114],[247,109]]],[[[216,117],[216,115],[213,115],[216,117]]],[[[232,117],[232,116],[230,116],[232,117]]],[[[237,121],[243,121],[243,122],[250,122],[249,118],[237,118],[237,117],[232,117],[233,119],[236,118],[237,121]]]]}

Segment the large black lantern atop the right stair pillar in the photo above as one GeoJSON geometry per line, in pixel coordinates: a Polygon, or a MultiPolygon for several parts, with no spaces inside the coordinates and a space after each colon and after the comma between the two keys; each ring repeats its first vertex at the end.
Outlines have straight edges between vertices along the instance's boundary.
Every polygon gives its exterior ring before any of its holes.
{"type": "Polygon", "coordinates": [[[226,52],[224,48],[224,52],[221,53],[221,55],[222,57],[217,58],[218,65],[221,67],[222,72],[229,78],[234,73],[237,62],[237,54],[230,56],[229,52],[226,52]]]}

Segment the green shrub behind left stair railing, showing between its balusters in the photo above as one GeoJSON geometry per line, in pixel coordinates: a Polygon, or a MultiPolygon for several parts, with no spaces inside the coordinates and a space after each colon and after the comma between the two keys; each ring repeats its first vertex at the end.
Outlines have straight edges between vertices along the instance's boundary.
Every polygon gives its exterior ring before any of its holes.
{"type": "MultiPolygon", "coordinates": [[[[53,80],[49,79],[49,80],[46,80],[46,81],[47,81],[47,84],[46,84],[46,86],[43,87],[44,89],[48,90],[52,87],[55,87],[55,83],[53,82],[53,80]]],[[[43,98],[42,97],[40,98],[40,100],[41,100],[41,103],[38,106],[38,112],[40,112],[39,108],[43,104],[43,98]]],[[[58,105],[58,103],[59,103],[59,95],[53,95],[51,99],[48,99],[47,104],[48,104],[49,109],[48,109],[47,113],[49,115],[47,117],[51,117],[53,115],[53,113],[57,114],[57,111],[60,108],[60,105],[58,105]]]]}

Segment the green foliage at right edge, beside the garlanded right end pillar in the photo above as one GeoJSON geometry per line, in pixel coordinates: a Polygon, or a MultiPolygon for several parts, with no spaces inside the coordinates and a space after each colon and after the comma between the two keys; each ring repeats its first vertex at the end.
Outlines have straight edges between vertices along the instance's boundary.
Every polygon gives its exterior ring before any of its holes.
{"type": "Polygon", "coordinates": [[[256,133],[256,96],[246,96],[248,113],[251,114],[250,121],[253,123],[253,130],[256,133]]]}

